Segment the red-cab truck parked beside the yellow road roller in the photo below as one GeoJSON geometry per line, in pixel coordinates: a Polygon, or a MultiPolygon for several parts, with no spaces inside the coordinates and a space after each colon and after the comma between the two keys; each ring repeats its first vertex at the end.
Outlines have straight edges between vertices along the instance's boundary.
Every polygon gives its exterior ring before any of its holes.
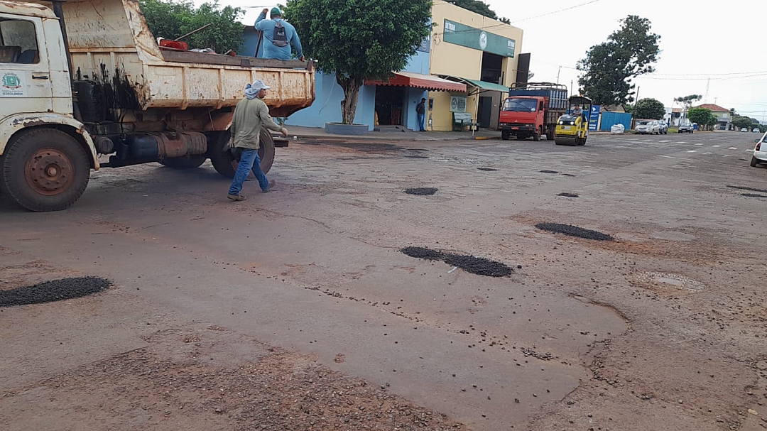
{"type": "Polygon", "coordinates": [[[518,140],[532,137],[554,140],[557,120],[568,108],[568,87],[561,84],[518,82],[503,102],[498,128],[501,138],[518,140]]]}

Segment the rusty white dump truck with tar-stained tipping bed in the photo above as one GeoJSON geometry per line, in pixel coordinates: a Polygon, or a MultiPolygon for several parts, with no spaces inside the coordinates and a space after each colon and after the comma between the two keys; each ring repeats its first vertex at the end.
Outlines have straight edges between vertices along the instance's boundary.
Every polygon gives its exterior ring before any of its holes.
{"type": "Polygon", "coordinates": [[[0,44],[0,196],[31,211],[71,206],[92,169],[210,159],[234,176],[229,127],[256,79],[273,117],[314,101],[313,62],[160,47],[136,0],[0,0],[0,44]]]}

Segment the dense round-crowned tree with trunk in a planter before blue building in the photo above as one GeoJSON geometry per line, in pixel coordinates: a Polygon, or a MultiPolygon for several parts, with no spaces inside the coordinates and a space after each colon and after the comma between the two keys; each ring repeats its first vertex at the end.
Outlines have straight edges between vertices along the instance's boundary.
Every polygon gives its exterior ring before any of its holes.
{"type": "Polygon", "coordinates": [[[344,90],[341,114],[354,123],[366,78],[401,71],[431,32],[430,0],[288,0],[286,15],[303,38],[304,54],[335,73],[344,90]]]}

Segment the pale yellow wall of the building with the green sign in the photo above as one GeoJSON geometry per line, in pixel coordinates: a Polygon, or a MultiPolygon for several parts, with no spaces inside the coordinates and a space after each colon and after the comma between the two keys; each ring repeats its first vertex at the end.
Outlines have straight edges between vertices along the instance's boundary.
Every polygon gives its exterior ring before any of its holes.
{"type": "MultiPolygon", "coordinates": [[[[430,73],[433,75],[449,75],[479,80],[482,73],[482,51],[451,44],[443,40],[445,20],[456,21],[473,28],[483,29],[489,33],[514,39],[516,41],[514,58],[505,58],[503,85],[506,87],[516,81],[518,56],[522,51],[522,29],[511,25],[503,25],[501,21],[486,18],[464,8],[459,8],[443,0],[434,0],[432,19],[436,27],[432,30],[430,73]]],[[[458,94],[466,96],[466,93],[458,94]]],[[[433,120],[433,130],[453,130],[453,114],[450,112],[450,94],[444,91],[432,91],[429,94],[434,99],[434,109],[430,112],[433,120]]],[[[466,112],[472,114],[476,121],[476,106],[478,96],[466,100],[466,112]]]]}

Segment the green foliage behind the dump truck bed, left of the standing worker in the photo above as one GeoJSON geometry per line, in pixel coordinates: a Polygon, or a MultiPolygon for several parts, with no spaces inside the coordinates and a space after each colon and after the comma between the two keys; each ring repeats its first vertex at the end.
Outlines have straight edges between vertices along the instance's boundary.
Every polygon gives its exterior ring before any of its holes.
{"type": "Polygon", "coordinates": [[[206,24],[205,30],[184,38],[189,48],[211,48],[220,54],[242,47],[244,32],[239,16],[241,8],[225,6],[218,1],[203,3],[195,8],[193,2],[170,0],[139,0],[146,25],[156,38],[175,39],[206,24]]]}

